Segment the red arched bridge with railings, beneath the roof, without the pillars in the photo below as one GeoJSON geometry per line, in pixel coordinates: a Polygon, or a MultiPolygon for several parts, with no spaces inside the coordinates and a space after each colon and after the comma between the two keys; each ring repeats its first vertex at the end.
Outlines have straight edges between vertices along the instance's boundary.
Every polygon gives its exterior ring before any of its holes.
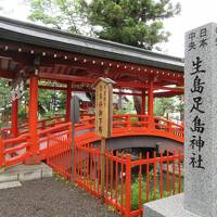
{"type": "MultiPolygon", "coordinates": [[[[63,119],[63,117],[56,117],[38,123],[37,138],[39,144],[38,155],[40,156],[40,161],[55,155],[53,150],[64,149],[64,144],[68,144],[71,146],[73,135],[72,124],[65,123],[63,119]]],[[[136,136],[166,138],[174,141],[177,149],[182,150],[183,126],[158,117],[155,117],[154,123],[151,123],[149,117],[144,115],[114,115],[113,119],[113,138],[136,136]]],[[[30,157],[30,133],[28,125],[18,127],[16,138],[7,139],[11,137],[10,132],[10,128],[2,129],[3,139],[1,140],[1,165],[5,167],[16,165],[17,163],[25,163],[26,158],[30,157]]],[[[79,125],[75,126],[75,143],[77,145],[86,145],[99,140],[100,138],[94,132],[93,117],[84,118],[79,125]]],[[[116,144],[115,142],[113,143],[113,150],[115,150],[116,144]]],[[[66,145],[67,149],[68,145],[66,145]]],[[[149,146],[149,144],[144,143],[144,146],[149,146]]],[[[126,144],[118,146],[118,149],[125,148],[133,146],[126,146],[126,144]]],[[[169,146],[167,146],[166,150],[169,150],[169,146]]],[[[173,146],[171,150],[175,150],[175,148],[173,146]]]]}

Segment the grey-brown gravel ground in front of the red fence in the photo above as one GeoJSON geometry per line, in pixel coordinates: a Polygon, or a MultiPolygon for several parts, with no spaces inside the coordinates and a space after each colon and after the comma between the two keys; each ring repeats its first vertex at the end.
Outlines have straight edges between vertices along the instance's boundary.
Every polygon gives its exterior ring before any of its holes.
{"type": "Polygon", "coordinates": [[[52,178],[0,190],[0,217],[117,217],[89,193],[52,178]]]}

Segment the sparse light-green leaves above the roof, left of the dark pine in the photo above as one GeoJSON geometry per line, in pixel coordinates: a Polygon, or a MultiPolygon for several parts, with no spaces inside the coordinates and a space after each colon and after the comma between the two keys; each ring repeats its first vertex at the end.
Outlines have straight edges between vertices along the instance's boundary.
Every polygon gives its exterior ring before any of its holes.
{"type": "Polygon", "coordinates": [[[58,29],[81,34],[84,0],[27,0],[30,5],[29,18],[58,29]]]}

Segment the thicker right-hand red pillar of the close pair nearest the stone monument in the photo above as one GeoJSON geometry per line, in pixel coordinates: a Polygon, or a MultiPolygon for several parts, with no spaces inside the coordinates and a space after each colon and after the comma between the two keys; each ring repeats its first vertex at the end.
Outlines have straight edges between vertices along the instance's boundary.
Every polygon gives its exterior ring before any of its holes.
{"type": "Polygon", "coordinates": [[[149,101],[148,101],[149,126],[150,126],[150,128],[154,128],[154,87],[153,87],[153,81],[150,81],[148,95],[149,95],[149,101]]]}

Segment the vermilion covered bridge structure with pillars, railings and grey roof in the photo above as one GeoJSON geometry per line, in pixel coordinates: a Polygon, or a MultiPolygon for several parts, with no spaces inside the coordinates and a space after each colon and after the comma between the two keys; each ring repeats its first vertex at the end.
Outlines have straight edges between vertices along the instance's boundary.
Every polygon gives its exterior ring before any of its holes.
{"type": "MultiPolygon", "coordinates": [[[[71,141],[72,92],[78,89],[76,85],[91,87],[99,77],[108,77],[116,82],[114,88],[119,91],[115,94],[135,94],[142,99],[142,112],[136,115],[139,118],[137,129],[131,125],[130,116],[115,117],[119,118],[116,126],[114,122],[115,137],[143,133],[183,142],[181,126],[156,122],[154,117],[154,98],[183,94],[181,59],[0,17],[0,77],[11,79],[15,85],[22,78],[29,86],[28,123],[18,125],[18,99],[13,100],[11,127],[2,129],[0,140],[0,167],[47,159],[52,152],[49,138],[54,135],[65,133],[63,140],[71,141]],[[58,81],[64,87],[40,86],[39,80],[58,81]],[[40,88],[65,91],[64,120],[47,125],[46,120],[38,119],[40,88]],[[126,93],[122,89],[137,92],[126,93]]],[[[79,90],[82,90],[81,86],[79,90]]],[[[88,126],[93,128],[92,120],[81,119],[75,131],[88,126]]],[[[82,138],[90,138],[91,133],[94,132],[82,133],[82,138]]]]}

